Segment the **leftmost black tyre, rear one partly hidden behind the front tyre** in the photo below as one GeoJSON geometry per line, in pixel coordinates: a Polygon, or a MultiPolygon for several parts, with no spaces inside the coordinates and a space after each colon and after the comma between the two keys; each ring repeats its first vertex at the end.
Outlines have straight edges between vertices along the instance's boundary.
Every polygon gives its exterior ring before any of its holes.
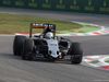
{"type": "Polygon", "coordinates": [[[23,48],[23,42],[24,42],[25,38],[26,38],[26,36],[21,36],[21,35],[16,35],[14,37],[14,42],[13,42],[13,55],[21,56],[22,48],[23,48]]]}

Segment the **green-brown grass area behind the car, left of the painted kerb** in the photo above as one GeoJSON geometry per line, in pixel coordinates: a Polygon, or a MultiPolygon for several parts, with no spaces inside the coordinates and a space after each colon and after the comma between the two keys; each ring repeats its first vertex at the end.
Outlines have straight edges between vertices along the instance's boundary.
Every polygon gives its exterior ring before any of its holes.
{"type": "MultiPolygon", "coordinates": [[[[57,31],[82,27],[80,24],[62,20],[0,13],[0,34],[28,33],[31,23],[52,23],[57,25],[57,31]]],[[[40,32],[41,30],[36,30],[36,33],[40,32]]]]}

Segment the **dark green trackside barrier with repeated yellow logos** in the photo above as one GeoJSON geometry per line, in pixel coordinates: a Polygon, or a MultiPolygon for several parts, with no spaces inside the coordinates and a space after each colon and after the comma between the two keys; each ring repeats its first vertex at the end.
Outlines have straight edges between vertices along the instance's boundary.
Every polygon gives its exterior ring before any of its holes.
{"type": "Polygon", "coordinates": [[[109,0],[0,0],[0,7],[109,14],[109,0]]]}

